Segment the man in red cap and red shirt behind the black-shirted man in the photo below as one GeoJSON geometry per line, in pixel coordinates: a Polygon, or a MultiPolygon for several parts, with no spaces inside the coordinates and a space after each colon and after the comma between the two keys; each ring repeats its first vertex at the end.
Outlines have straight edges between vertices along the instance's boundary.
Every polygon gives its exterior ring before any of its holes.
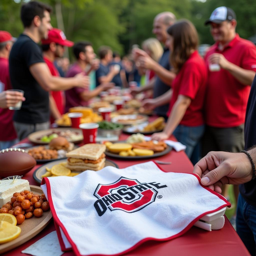
{"type": "MultiPolygon", "coordinates": [[[[57,28],[50,30],[48,38],[42,40],[44,61],[53,76],[60,76],[54,65],[55,59],[63,57],[65,46],[72,47],[73,45],[73,42],[66,39],[63,31],[57,28]]],[[[65,98],[63,91],[51,91],[49,93],[49,104],[51,112],[50,121],[54,123],[54,120],[60,118],[64,113],[65,98]]]]}

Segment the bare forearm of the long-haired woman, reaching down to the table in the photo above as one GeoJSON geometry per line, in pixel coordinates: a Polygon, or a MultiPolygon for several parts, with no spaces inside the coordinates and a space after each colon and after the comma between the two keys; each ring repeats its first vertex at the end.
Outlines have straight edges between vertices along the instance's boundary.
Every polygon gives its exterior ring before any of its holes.
{"type": "Polygon", "coordinates": [[[165,126],[164,133],[170,136],[174,132],[182,120],[187,108],[187,104],[178,101],[175,102],[165,126]]]}

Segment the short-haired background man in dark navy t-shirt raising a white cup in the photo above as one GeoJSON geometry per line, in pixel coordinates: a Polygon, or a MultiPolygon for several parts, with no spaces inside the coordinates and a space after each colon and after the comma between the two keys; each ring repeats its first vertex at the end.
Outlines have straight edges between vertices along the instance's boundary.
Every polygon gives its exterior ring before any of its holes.
{"type": "Polygon", "coordinates": [[[102,83],[109,83],[113,77],[119,73],[119,69],[114,66],[109,66],[113,59],[112,50],[108,46],[101,46],[99,49],[100,66],[95,72],[96,86],[102,83]]]}

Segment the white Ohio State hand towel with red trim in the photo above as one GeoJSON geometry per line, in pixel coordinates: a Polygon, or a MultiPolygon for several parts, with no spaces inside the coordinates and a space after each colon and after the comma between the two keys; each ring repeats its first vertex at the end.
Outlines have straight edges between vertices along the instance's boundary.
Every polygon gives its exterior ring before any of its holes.
{"type": "Polygon", "coordinates": [[[62,248],[72,246],[76,255],[115,255],[147,240],[174,239],[205,214],[230,206],[199,180],[146,162],[44,178],[41,187],[62,248]]]}

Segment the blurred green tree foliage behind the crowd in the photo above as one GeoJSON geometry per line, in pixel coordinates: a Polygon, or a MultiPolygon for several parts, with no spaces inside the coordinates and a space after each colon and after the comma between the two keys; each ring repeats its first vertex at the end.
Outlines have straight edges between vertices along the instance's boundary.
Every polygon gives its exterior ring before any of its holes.
{"type": "MultiPolygon", "coordinates": [[[[1,0],[2,30],[18,36],[22,30],[20,7],[29,0],[1,0]]],[[[133,44],[154,37],[154,17],[164,11],[178,19],[191,20],[199,33],[200,43],[214,43],[204,22],[218,6],[228,6],[237,14],[237,32],[243,38],[256,34],[256,2],[253,0],[41,0],[52,6],[52,26],[65,31],[69,40],[88,40],[97,52],[101,45],[126,54],[133,44]]],[[[72,55],[71,55],[72,56],[72,55]]]]}

